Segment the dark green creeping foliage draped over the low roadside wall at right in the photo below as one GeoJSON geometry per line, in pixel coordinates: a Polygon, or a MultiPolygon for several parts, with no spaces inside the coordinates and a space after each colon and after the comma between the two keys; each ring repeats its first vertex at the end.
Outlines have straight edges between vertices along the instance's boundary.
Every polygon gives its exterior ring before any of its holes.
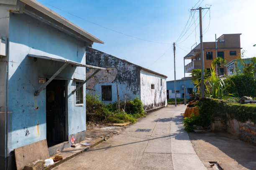
{"type": "Polygon", "coordinates": [[[211,122],[220,121],[227,125],[228,120],[236,119],[240,122],[251,120],[256,124],[256,105],[229,103],[238,100],[237,98],[220,100],[212,98],[202,98],[196,106],[199,115],[184,118],[185,130],[193,131],[193,125],[207,127],[211,122]]]}

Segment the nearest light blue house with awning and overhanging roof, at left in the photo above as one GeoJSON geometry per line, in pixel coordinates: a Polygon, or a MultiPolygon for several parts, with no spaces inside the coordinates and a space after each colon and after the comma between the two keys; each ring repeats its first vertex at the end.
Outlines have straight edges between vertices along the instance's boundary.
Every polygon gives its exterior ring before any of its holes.
{"type": "Polygon", "coordinates": [[[0,166],[14,169],[16,148],[84,140],[85,67],[104,70],[86,47],[104,42],[35,0],[0,0],[0,18],[0,166]]]}

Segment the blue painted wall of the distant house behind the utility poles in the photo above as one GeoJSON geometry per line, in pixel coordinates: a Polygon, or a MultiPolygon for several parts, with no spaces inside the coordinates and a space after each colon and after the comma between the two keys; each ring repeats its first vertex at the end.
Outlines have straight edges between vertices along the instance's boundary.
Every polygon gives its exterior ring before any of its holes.
{"type": "MultiPolygon", "coordinates": [[[[182,85],[184,85],[184,79],[176,80],[176,90],[179,90],[179,92],[181,93],[181,98],[184,98],[182,97],[182,93],[184,93],[184,88],[182,88],[182,85]]],[[[174,80],[167,81],[166,86],[167,90],[172,90],[172,92],[174,93],[174,80]]],[[[191,78],[186,78],[186,89],[188,88],[193,88],[193,91],[196,90],[195,85],[191,83],[191,78]]],[[[187,99],[189,98],[188,91],[186,91],[186,97],[187,99]]]]}

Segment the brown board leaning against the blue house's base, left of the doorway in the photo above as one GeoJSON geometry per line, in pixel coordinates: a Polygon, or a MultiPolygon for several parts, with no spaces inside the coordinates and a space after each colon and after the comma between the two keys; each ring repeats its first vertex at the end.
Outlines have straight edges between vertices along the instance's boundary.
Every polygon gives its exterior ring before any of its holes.
{"type": "Polygon", "coordinates": [[[29,145],[14,149],[17,170],[23,170],[24,166],[33,160],[45,160],[49,158],[47,141],[41,140],[29,145]]]}

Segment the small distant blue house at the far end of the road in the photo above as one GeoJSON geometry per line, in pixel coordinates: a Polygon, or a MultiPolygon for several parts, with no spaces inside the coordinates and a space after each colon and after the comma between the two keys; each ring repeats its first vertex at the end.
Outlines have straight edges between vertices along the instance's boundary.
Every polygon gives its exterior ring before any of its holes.
{"type": "MultiPolygon", "coordinates": [[[[192,92],[196,91],[195,85],[191,83],[192,78],[186,77],[186,98],[189,99],[192,92]]],[[[175,97],[174,80],[166,82],[167,99],[175,97]]],[[[176,80],[176,97],[184,98],[184,78],[176,80]]]]}

